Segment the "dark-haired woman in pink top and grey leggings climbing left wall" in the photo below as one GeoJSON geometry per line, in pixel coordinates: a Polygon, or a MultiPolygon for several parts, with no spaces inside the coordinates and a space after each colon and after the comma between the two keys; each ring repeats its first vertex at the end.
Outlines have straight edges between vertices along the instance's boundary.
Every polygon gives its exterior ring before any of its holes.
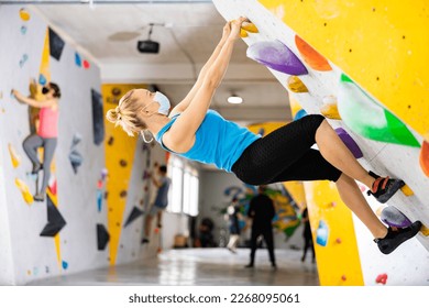
{"type": "Polygon", "coordinates": [[[37,174],[43,169],[42,187],[34,195],[34,200],[43,201],[51,176],[51,163],[57,144],[61,90],[56,84],[48,82],[42,88],[42,94],[45,98],[42,101],[24,97],[18,90],[12,90],[12,94],[18,101],[41,109],[38,112],[38,128],[36,133],[29,135],[24,140],[23,147],[30,161],[33,163],[32,174],[37,174]],[[38,147],[43,147],[43,163],[37,157],[38,147]]]}

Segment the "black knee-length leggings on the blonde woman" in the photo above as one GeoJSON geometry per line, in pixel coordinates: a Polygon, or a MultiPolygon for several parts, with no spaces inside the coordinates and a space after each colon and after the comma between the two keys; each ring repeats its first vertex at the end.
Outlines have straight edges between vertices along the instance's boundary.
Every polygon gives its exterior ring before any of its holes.
{"type": "Polygon", "coordinates": [[[232,166],[232,172],[250,185],[287,180],[329,179],[337,182],[341,172],[328,163],[316,143],[322,116],[306,116],[253,142],[232,166]]]}

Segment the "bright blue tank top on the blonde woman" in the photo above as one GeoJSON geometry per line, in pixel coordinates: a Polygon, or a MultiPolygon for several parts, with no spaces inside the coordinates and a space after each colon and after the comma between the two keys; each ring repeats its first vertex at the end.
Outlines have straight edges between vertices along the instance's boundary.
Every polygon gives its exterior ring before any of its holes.
{"type": "MultiPolygon", "coordinates": [[[[179,114],[173,117],[155,136],[161,146],[172,153],[174,152],[163,144],[162,139],[177,117],[179,114]]],[[[239,160],[244,150],[260,138],[261,135],[223,119],[215,110],[208,110],[196,132],[193,147],[186,153],[175,154],[204,164],[213,164],[218,168],[230,173],[232,165],[239,160]]]]}

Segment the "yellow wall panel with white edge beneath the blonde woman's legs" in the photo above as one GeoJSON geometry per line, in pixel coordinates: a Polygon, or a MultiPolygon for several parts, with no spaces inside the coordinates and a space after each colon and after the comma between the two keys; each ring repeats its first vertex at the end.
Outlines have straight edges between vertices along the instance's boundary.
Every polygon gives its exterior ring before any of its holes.
{"type": "Polygon", "coordinates": [[[305,189],[320,285],[362,286],[364,282],[352,212],[341,201],[333,183],[306,182],[305,189]],[[329,230],[326,246],[317,244],[316,239],[321,220],[329,230]]]}

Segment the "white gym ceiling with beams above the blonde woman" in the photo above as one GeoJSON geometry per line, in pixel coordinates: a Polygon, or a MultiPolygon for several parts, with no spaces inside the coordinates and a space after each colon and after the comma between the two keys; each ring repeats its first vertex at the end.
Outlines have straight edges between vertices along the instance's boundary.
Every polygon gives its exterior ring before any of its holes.
{"type": "MultiPolygon", "coordinates": [[[[32,8],[69,42],[87,51],[100,66],[103,82],[155,84],[173,103],[194,85],[226,23],[210,1],[68,2],[76,3],[32,8]],[[147,38],[150,23],[156,24],[151,38],[161,45],[156,55],[136,50],[136,42],[147,38]]],[[[290,120],[286,89],[267,68],[246,57],[246,48],[239,40],[211,108],[241,124],[290,120]],[[228,103],[232,92],[242,96],[244,103],[228,103]]]]}

